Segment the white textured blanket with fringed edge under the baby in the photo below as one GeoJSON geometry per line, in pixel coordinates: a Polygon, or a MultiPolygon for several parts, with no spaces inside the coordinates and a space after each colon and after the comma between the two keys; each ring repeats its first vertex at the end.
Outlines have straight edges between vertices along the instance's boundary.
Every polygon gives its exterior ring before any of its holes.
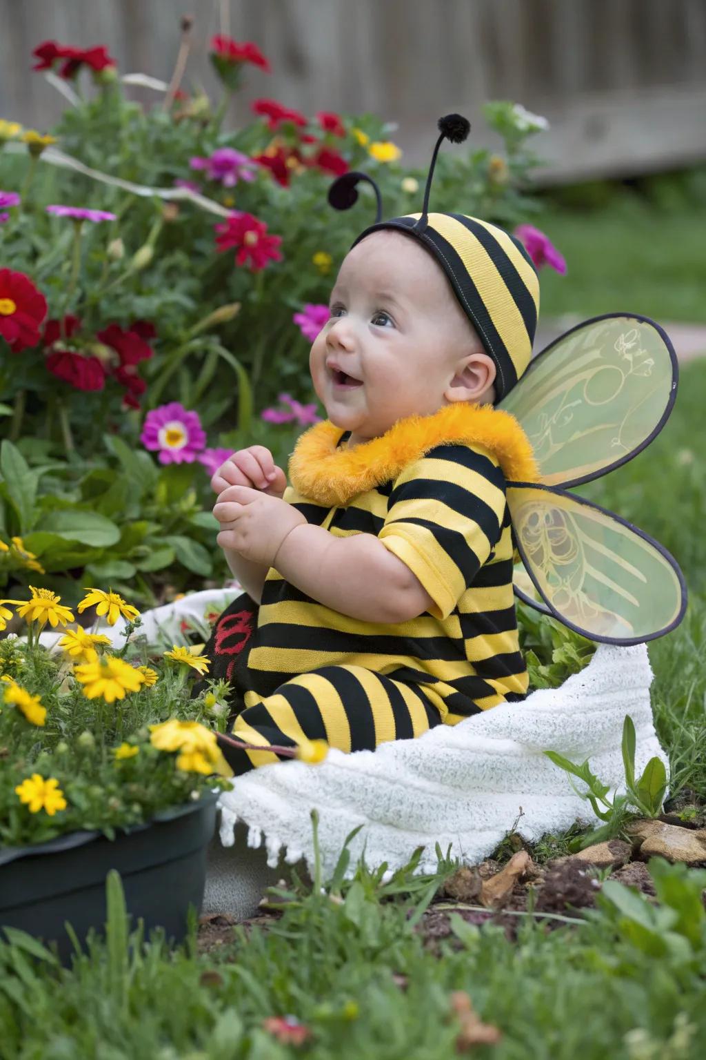
{"type": "MultiPolygon", "coordinates": [[[[179,623],[203,619],[207,605],[222,608],[237,588],[211,589],[143,614],[140,631],[151,641],[178,639],[179,623]]],[[[102,629],[122,643],[122,625],[102,629]]],[[[43,634],[48,643],[56,634],[43,634]],[[51,639],[50,639],[51,638],[51,639]]],[[[590,665],[561,688],[532,692],[523,703],[494,707],[455,726],[439,725],[416,740],[385,743],[375,752],[330,750],[320,765],[279,762],[233,781],[220,798],[224,846],[237,822],[248,846],[267,846],[268,863],[280,855],[313,865],[311,810],[319,811],[322,867],[330,873],[348,834],[350,869],[360,856],[388,871],[423,848],[418,871],[434,871],[436,845],[466,864],[488,856],[514,827],[526,840],[565,830],[575,820],[595,823],[568,777],[543,754],[558,750],[575,762],[590,759],[604,783],[624,780],[620,743],[630,714],[636,729],[635,766],[658,755],[650,706],[652,671],[645,644],[601,644],[590,665]]],[[[236,881],[234,881],[236,884],[236,881]]]]}

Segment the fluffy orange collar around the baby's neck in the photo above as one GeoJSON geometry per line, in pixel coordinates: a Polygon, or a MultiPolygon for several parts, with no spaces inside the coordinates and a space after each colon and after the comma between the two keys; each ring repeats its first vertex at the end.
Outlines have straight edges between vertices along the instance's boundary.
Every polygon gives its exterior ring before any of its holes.
{"type": "Polygon", "coordinates": [[[433,416],[400,420],[380,438],[337,448],[344,431],[325,420],[302,435],[289,461],[289,478],[304,497],[331,507],[397,478],[437,445],[466,443],[491,453],[508,481],[536,482],[537,462],[524,430],[510,412],[491,405],[448,405],[433,416]]]}

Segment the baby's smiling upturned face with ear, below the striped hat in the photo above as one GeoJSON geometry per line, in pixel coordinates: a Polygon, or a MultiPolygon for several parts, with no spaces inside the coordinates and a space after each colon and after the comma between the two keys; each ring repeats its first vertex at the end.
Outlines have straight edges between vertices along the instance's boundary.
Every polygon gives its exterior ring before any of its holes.
{"type": "Polygon", "coordinates": [[[329,304],[309,367],[328,419],[352,445],[459,400],[450,389],[459,361],[485,355],[440,267],[398,232],[352,248],[329,304]]]}

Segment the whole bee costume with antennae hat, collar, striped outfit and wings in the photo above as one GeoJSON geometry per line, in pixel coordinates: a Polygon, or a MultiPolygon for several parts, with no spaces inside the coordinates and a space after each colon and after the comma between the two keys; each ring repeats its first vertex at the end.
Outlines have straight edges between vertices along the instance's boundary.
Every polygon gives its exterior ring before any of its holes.
{"type": "Polygon", "coordinates": [[[381,220],[380,192],[362,173],[334,181],[329,201],[347,209],[368,181],[378,216],[356,243],[393,229],[434,257],[496,366],[496,405],[411,417],[352,449],[328,421],[298,440],[284,499],[338,536],[375,534],[433,606],[403,623],[363,622],[270,569],[259,608],[239,597],[206,646],[210,676],[233,691],[222,749],[236,774],[277,761],[270,746],[374,749],[524,699],[514,595],[609,643],[662,636],[684,615],[672,556],[567,492],[664,426],[677,376],[669,338],[644,317],[608,315],[530,361],[539,282],[523,245],[487,222],[429,213],[439,146],[470,128],[458,114],[438,126],[421,213],[381,220]]]}

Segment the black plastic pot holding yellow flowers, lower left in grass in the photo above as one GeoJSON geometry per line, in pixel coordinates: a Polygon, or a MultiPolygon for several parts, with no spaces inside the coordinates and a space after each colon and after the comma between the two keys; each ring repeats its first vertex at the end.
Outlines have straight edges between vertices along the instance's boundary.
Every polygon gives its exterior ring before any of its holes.
{"type": "Polygon", "coordinates": [[[146,825],[107,840],[71,832],[35,847],[0,848],[0,928],[19,928],[56,942],[61,960],[106,920],[106,876],[116,869],[132,923],[162,928],[180,941],[189,906],[201,911],[206,849],[216,825],[216,795],[158,814],[146,825]]]}

